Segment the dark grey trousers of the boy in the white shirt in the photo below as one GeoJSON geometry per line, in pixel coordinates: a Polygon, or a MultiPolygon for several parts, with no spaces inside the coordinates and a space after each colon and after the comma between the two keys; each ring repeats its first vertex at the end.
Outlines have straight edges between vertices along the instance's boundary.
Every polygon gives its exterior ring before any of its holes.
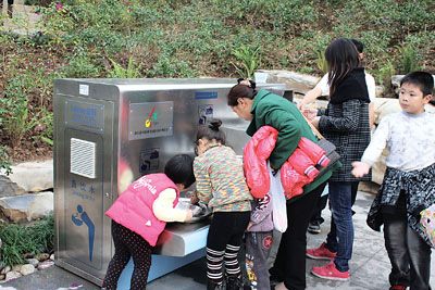
{"type": "Polygon", "coordinates": [[[431,248],[408,225],[403,211],[383,213],[385,248],[391,263],[389,283],[428,290],[431,248]]]}

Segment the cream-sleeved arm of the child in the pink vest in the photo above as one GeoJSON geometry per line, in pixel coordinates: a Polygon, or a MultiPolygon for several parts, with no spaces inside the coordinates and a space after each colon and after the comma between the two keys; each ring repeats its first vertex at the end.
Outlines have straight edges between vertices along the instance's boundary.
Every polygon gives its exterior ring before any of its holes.
{"type": "Polygon", "coordinates": [[[187,222],[191,219],[192,212],[174,209],[176,191],[173,188],[166,188],[160,192],[159,198],[152,204],[152,212],[156,217],[162,222],[187,222]]]}

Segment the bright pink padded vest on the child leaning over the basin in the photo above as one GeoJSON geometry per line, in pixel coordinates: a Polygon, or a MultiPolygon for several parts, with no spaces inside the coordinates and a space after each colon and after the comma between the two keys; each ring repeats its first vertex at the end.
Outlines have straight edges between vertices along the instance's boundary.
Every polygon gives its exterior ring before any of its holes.
{"type": "Polygon", "coordinates": [[[135,231],[154,247],[166,226],[152,212],[152,204],[160,192],[167,188],[176,191],[173,207],[178,203],[179,191],[175,184],[162,173],[145,175],[130,184],[105,212],[117,224],[135,231]]]}

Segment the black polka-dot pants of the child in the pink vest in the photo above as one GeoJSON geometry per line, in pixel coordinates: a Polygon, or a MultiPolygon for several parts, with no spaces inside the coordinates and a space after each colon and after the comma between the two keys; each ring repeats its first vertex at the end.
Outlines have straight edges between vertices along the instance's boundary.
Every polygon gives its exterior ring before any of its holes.
{"type": "Polygon", "coordinates": [[[114,220],[112,220],[112,238],[115,253],[109,263],[101,287],[108,290],[116,289],[121,273],[127,265],[129,257],[133,256],[135,268],[132,275],[130,289],[146,289],[151,266],[152,247],[142,237],[114,220]]]}

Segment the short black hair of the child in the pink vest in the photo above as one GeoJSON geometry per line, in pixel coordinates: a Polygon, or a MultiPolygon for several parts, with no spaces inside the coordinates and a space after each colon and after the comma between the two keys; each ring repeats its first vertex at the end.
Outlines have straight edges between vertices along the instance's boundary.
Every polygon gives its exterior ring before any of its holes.
{"type": "Polygon", "coordinates": [[[184,185],[185,188],[188,188],[196,180],[194,175],[194,157],[187,154],[173,156],[166,162],[164,174],[174,181],[174,184],[181,184],[184,185]]]}

